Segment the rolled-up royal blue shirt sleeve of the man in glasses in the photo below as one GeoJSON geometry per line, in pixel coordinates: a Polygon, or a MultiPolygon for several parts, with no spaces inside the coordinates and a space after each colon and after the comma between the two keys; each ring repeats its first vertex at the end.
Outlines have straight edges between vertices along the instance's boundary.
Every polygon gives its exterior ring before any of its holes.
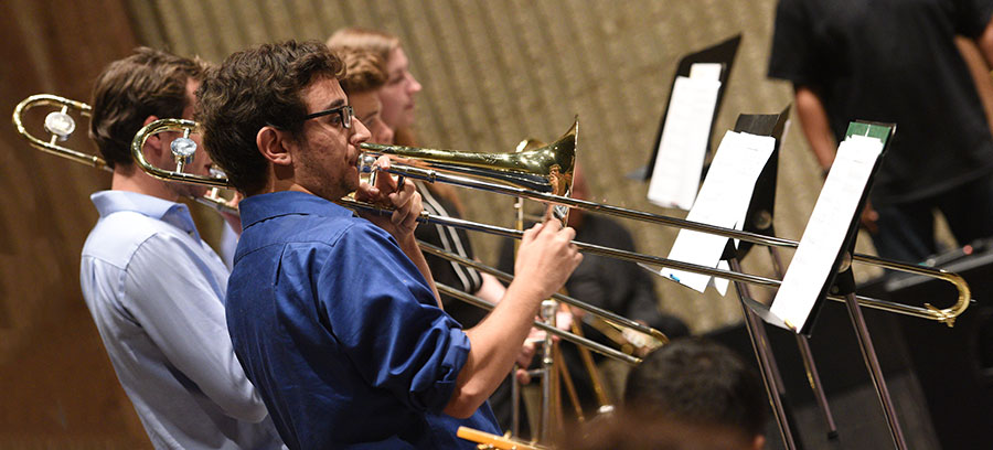
{"type": "Polygon", "coordinates": [[[318,286],[330,331],[366,383],[414,410],[445,408],[469,338],[437,307],[392,237],[371,224],[352,227],[335,243],[318,286]]]}

